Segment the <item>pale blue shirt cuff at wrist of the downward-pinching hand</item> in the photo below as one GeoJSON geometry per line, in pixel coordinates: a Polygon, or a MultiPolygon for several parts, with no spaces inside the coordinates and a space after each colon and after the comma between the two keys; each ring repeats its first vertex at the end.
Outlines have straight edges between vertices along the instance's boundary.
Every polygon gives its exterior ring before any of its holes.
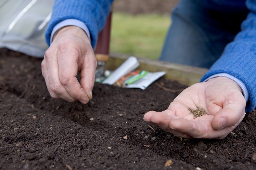
{"type": "Polygon", "coordinates": [[[85,25],[85,23],[83,23],[82,21],[77,20],[77,19],[66,19],[66,20],[63,20],[63,21],[57,23],[56,26],[53,27],[53,30],[51,33],[50,44],[52,43],[52,38],[53,38],[53,35],[55,34],[55,32],[65,26],[77,26],[77,27],[81,28],[82,30],[85,31],[85,33],[87,34],[87,36],[91,42],[90,31],[87,28],[87,26],[85,25]]]}

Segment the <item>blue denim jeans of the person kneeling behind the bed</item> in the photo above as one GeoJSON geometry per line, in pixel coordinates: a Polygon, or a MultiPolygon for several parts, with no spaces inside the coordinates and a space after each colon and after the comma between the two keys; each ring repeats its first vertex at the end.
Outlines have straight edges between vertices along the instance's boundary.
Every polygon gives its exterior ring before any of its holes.
{"type": "Polygon", "coordinates": [[[202,1],[179,1],[159,60],[209,68],[240,31],[247,10],[224,12],[202,1]]]}

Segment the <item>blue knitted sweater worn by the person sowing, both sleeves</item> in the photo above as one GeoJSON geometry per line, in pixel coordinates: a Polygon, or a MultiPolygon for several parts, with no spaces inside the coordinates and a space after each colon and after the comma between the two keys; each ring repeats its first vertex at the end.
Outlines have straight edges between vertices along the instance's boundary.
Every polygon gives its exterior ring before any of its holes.
{"type": "MultiPolygon", "coordinates": [[[[103,28],[113,0],[55,0],[52,18],[49,21],[45,38],[50,44],[53,27],[65,19],[77,19],[86,24],[90,31],[92,46],[103,28]]],[[[246,112],[256,107],[256,0],[199,0],[219,11],[251,12],[241,25],[241,32],[229,43],[222,56],[203,76],[201,81],[218,73],[230,74],[241,80],[249,92],[246,112]]]]}

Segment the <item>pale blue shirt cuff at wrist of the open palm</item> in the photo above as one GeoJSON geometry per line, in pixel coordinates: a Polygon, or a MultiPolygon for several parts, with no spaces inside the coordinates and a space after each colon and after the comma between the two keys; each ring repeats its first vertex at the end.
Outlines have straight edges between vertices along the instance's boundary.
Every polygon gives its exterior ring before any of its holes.
{"type": "Polygon", "coordinates": [[[241,80],[239,80],[238,78],[231,76],[230,74],[227,74],[227,73],[219,73],[219,74],[214,74],[214,75],[208,77],[207,79],[204,80],[204,82],[211,78],[215,78],[215,77],[227,77],[227,78],[230,78],[231,80],[233,80],[234,82],[236,82],[242,89],[242,92],[243,92],[246,102],[248,101],[249,92],[248,92],[248,89],[246,88],[245,84],[241,80]]]}

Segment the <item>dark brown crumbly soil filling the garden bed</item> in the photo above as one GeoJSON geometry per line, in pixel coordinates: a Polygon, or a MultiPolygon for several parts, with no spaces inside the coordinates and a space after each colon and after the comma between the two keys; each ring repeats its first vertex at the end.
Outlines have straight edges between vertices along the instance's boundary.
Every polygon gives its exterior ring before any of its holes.
{"type": "Polygon", "coordinates": [[[41,59],[0,49],[0,169],[256,169],[255,111],[223,140],[181,140],[143,121],[178,93],[96,83],[88,104],[68,103],[50,97],[41,59]]]}

